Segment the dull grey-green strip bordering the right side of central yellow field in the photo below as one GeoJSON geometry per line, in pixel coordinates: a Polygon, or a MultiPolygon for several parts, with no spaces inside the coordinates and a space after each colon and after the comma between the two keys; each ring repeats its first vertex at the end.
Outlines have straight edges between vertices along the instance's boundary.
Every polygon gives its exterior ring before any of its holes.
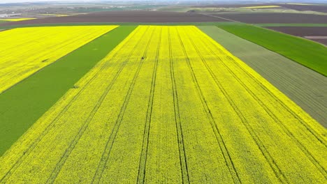
{"type": "Polygon", "coordinates": [[[198,26],[327,127],[327,78],[216,26],[198,26]]]}

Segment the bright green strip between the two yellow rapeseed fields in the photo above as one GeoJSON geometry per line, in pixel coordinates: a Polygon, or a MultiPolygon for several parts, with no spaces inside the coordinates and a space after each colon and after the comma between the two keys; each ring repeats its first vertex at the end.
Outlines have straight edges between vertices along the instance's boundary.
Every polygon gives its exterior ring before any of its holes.
{"type": "Polygon", "coordinates": [[[135,27],[119,26],[1,93],[0,155],[135,27]]]}

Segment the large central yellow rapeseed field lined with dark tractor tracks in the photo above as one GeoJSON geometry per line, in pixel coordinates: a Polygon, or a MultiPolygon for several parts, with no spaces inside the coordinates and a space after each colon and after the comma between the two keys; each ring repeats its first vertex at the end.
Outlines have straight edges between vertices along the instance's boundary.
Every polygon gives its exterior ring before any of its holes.
{"type": "Polygon", "coordinates": [[[75,86],[0,183],[326,181],[326,129],[196,26],[138,26],[75,86]]]}

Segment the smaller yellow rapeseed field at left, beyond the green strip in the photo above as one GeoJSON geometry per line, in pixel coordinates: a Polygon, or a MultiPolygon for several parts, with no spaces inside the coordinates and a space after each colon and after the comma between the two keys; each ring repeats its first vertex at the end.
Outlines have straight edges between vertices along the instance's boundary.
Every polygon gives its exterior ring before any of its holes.
{"type": "Polygon", "coordinates": [[[0,93],[117,26],[54,26],[0,32],[0,93]]]}

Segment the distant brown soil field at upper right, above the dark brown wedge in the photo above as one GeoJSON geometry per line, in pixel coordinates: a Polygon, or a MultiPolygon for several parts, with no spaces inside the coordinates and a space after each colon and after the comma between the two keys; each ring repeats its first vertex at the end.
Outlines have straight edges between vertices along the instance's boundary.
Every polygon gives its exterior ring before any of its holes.
{"type": "Polygon", "coordinates": [[[238,22],[245,22],[249,24],[263,24],[263,23],[326,24],[327,23],[327,15],[311,15],[311,14],[298,14],[298,13],[217,14],[217,17],[235,20],[238,22]]]}

